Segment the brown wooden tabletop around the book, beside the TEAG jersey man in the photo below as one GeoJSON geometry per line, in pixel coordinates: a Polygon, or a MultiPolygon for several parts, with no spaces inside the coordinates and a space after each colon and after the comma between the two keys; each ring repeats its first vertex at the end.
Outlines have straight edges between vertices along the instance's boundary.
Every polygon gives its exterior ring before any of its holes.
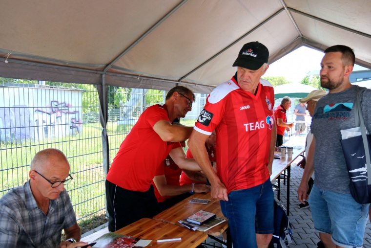
{"type": "MultiPolygon", "coordinates": [[[[153,219],[171,223],[174,225],[180,225],[178,221],[186,219],[187,217],[191,216],[192,214],[204,210],[210,213],[216,214],[217,217],[226,219],[226,217],[223,216],[222,210],[220,208],[219,200],[213,199],[211,197],[210,192],[208,193],[195,193],[194,195],[189,196],[185,200],[175,204],[174,206],[166,209],[165,211],[159,213],[153,219]],[[207,199],[211,200],[207,204],[196,204],[196,203],[188,203],[191,199],[198,198],[198,199],[207,199]]],[[[206,231],[207,234],[210,234],[212,236],[219,236],[222,234],[228,227],[228,221],[214,226],[213,228],[206,231]]],[[[184,227],[186,228],[186,227],[184,227]]]]}

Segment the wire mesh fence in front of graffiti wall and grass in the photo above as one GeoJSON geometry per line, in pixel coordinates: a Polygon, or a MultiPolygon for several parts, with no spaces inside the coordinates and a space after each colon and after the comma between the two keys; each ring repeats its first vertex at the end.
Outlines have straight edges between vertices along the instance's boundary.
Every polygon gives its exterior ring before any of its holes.
{"type": "MultiPolygon", "coordinates": [[[[108,86],[110,164],[143,111],[167,91],[108,86]]],[[[193,125],[206,102],[196,94],[182,124],[193,125]]],[[[102,126],[94,85],[0,78],[0,197],[28,180],[34,155],[60,149],[74,180],[66,185],[78,220],[105,210],[102,126]]]]}

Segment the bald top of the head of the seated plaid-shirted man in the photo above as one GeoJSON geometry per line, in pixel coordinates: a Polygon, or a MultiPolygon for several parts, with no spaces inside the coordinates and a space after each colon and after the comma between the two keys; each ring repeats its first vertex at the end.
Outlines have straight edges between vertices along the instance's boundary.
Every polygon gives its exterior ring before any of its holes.
{"type": "Polygon", "coordinates": [[[69,163],[62,151],[48,148],[38,152],[31,161],[31,170],[43,173],[48,166],[68,166],[69,163]]]}

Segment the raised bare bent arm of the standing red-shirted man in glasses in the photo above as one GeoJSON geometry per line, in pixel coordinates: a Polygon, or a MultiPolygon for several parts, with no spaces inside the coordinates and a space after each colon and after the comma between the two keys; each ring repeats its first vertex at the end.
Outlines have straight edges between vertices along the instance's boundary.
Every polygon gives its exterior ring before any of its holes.
{"type": "Polygon", "coordinates": [[[193,127],[186,127],[182,125],[172,125],[167,120],[159,120],[153,126],[153,130],[164,141],[184,141],[191,135],[193,127]]]}

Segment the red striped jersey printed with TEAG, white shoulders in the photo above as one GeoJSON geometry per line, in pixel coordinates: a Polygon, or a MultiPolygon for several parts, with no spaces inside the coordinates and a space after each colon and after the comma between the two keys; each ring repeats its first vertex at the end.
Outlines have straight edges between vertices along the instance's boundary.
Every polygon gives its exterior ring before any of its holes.
{"type": "Polygon", "coordinates": [[[216,87],[206,99],[194,129],[216,130],[217,174],[227,193],[262,184],[269,178],[268,154],[274,123],[272,85],[260,79],[256,95],[236,80],[216,87]]]}

